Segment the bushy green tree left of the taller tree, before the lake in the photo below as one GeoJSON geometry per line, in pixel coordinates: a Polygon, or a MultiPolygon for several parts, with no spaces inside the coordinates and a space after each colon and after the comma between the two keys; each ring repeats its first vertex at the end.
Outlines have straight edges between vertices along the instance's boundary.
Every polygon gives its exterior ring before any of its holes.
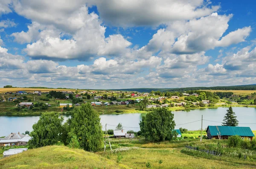
{"type": "Polygon", "coordinates": [[[32,126],[33,131],[30,133],[32,139],[29,140],[29,146],[42,147],[58,143],[63,120],[64,118],[59,117],[58,113],[43,113],[38,122],[32,126]]]}

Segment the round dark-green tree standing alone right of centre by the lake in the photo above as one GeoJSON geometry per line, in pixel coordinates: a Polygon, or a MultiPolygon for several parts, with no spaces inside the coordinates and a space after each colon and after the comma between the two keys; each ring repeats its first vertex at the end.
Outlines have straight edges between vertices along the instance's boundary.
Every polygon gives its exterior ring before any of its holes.
{"type": "Polygon", "coordinates": [[[174,114],[167,108],[156,108],[142,117],[140,131],[146,140],[172,140],[175,132],[174,114]]]}

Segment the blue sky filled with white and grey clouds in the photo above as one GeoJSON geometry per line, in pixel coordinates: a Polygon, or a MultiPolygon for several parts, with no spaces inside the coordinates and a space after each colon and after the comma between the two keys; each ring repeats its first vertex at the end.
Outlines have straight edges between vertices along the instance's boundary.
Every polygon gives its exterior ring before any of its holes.
{"type": "Polygon", "coordinates": [[[256,1],[1,0],[0,87],[256,83],[256,1]]]}

